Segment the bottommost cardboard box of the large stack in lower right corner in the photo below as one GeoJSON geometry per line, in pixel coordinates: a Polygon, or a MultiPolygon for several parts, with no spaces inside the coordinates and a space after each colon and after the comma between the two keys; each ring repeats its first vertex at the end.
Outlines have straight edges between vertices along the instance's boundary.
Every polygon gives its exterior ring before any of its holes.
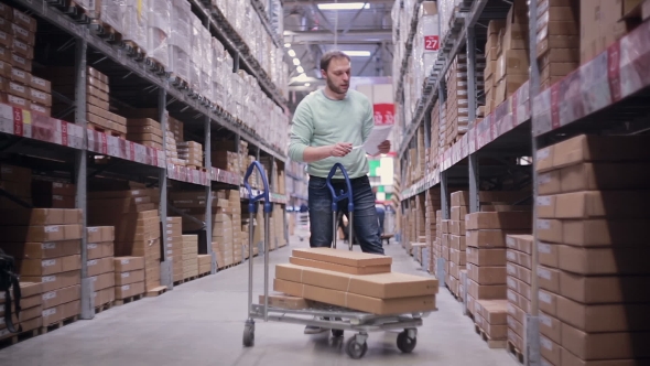
{"type": "MultiPolygon", "coordinates": [[[[587,334],[562,323],[562,346],[586,360],[650,357],[650,332],[587,334]]],[[[618,365],[618,364],[616,364],[618,365]]]]}

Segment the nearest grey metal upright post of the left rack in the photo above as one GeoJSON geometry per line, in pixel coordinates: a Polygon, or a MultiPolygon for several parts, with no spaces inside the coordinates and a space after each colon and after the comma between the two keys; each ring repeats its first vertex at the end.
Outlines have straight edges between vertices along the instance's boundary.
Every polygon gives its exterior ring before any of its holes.
{"type": "MultiPolygon", "coordinates": [[[[75,125],[86,131],[86,55],[88,43],[84,39],[75,41],[75,125]]],[[[95,287],[88,277],[88,136],[84,133],[84,147],[75,152],[75,207],[82,209],[82,319],[95,317],[95,287]]]]}

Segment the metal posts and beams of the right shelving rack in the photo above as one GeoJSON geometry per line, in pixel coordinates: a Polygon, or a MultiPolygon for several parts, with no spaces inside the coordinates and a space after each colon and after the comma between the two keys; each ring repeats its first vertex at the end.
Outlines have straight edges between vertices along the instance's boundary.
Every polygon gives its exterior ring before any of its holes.
{"type": "MultiPolygon", "coordinates": [[[[535,44],[538,1],[529,1],[530,44],[535,44]]],[[[418,101],[418,111],[408,123],[404,137],[399,146],[401,165],[405,165],[405,151],[413,146],[418,129],[431,114],[434,103],[444,98],[444,76],[452,60],[464,46],[468,62],[468,109],[469,130],[438,157],[438,168],[426,171],[424,177],[401,192],[404,205],[427,190],[438,186],[442,194],[443,218],[449,218],[451,181],[462,182],[469,189],[470,212],[479,208],[479,180],[484,176],[501,174],[503,166],[480,165],[479,158],[531,158],[532,165],[519,166],[530,174],[533,183],[532,202],[537,202],[538,176],[534,170],[535,151],[581,133],[635,134],[650,129],[650,74],[644,72],[650,64],[650,22],[641,23],[637,29],[610,45],[607,51],[591,62],[581,65],[564,79],[540,92],[540,69],[535,62],[537,49],[530,47],[530,78],[505,103],[479,122],[476,122],[476,37],[479,21],[502,19],[509,6],[506,1],[474,0],[464,1],[453,17],[449,33],[443,37],[438,63],[434,66],[424,86],[422,98],[418,101]],[[644,65],[644,66],[641,66],[644,65]],[[643,68],[644,67],[644,68],[643,68]]],[[[403,100],[403,89],[398,89],[396,100],[403,100]]],[[[442,108],[441,108],[442,109],[442,108]]],[[[426,147],[430,147],[426,141],[426,147]]],[[[516,168],[509,165],[509,169],[516,168]]],[[[402,176],[403,177],[403,176],[402,176]]],[[[403,179],[402,179],[403,181],[403,179]]],[[[534,204],[533,204],[534,205],[534,204]]],[[[533,224],[537,215],[533,214],[533,224]]],[[[533,236],[537,237],[535,225],[533,236]]],[[[537,240],[533,245],[532,273],[539,266],[537,240]]],[[[442,259],[444,261],[444,259],[442,259]]],[[[438,278],[444,281],[444,262],[438,262],[438,278]],[[441,272],[442,269],[442,272],[441,272]]],[[[463,283],[466,289],[466,282],[463,283]]],[[[531,314],[527,317],[526,355],[527,365],[540,364],[539,334],[539,284],[537,276],[532,277],[531,314]]],[[[466,308],[465,308],[466,311],[466,308]]]]}

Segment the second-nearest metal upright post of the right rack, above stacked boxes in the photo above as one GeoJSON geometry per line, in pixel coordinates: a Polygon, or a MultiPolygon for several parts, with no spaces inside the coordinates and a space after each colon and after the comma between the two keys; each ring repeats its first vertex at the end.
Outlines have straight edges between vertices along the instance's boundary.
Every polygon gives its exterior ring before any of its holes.
{"type": "MultiPolygon", "coordinates": [[[[467,28],[467,108],[469,126],[476,122],[476,34],[474,25],[467,28]]],[[[469,166],[469,212],[476,213],[480,209],[478,198],[478,152],[474,152],[468,159],[469,166]]]]}

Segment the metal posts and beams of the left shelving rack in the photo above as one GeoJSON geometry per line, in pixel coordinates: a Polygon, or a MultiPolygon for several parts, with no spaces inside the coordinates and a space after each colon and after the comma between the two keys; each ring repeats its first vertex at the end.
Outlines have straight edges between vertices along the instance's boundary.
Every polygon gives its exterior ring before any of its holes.
{"type": "MultiPolygon", "coordinates": [[[[240,37],[230,33],[227,24],[219,22],[219,12],[206,8],[194,0],[192,4],[198,8],[205,19],[205,24],[213,31],[229,52],[240,61],[249,73],[256,76],[261,88],[278,105],[285,108],[285,100],[278,88],[270,82],[261,69],[257,60],[250,55],[240,37]]],[[[209,3],[209,1],[207,1],[209,3]]],[[[129,107],[158,108],[162,130],[166,130],[166,114],[182,120],[195,136],[204,136],[205,151],[212,151],[210,142],[217,132],[236,142],[245,139],[249,146],[257,149],[257,158],[261,153],[272,157],[274,161],[284,164],[285,154],[278,147],[273,147],[242,125],[219,106],[201,98],[176,80],[144,60],[137,60],[129,54],[129,49],[115,44],[108,37],[101,37],[101,30],[91,28],[86,17],[74,12],[64,13],[46,1],[15,0],[10,6],[29,12],[39,20],[39,26],[45,26],[47,34],[52,33],[52,46],[61,46],[52,57],[54,62],[69,65],[74,61],[76,73],[75,99],[76,110],[74,122],[31,114],[6,104],[0,104],[0,153],[9,157],[10,163],[19,163],[36,171],[45,172],[48,176],[69,179],[76,184],[76,207],[86,212],[87,182],[89,177],[100,175],[108,177],[129,179],[148,183],[148,186],[160,187],[161,224],[166,223],[167,182],[183,182],[204,187],[210,194],[213,186],[240,189],[241,200],[248,200],[248,193],[241,190],[242,176],[239,173],[210,168],[204,171],[169,164],[164,154],[166,141],[163,139],[163,150],[144,147],[131,141],[119,139],[102,132],[87,129],[86,116],[86,68],[93,66],[109,75],[111,94],[132,103],[129,107]],[[74,45],[74,47],[71,47],[74,45]],[[68,51],[65,51],[68,50],[68,51]],[[112,87],[115,80],[115,88],[112,87]],[[156,92],[156,93],[154,93],[156,92]],[[226,131],[226,132],[225,132],[226,131]],[[43,133],[47,132],[47,133],[43,133]],[[225,134],[226,133],[226,134],[225,134]],[[108,163],[97,163],[95,159],[102,157],[108,163]],[[18,162],[17,162],[18,161],[18,162]]],[[[50,35],[48,35],[50,36],[50,35]]],[[[237,68],[235,69],[237,72],[237,68]]],[[[55,92],[55,90],[54,90],[55,92]]],[[[111,103],[122,103],[111,100],[111,103]]],[[[238,146],[238,143],[237,143],[238,146]]],[[[212,166],[210,154],[205,154],[205,166],[212,166]]],[[[271,174],[273,172],[270,172],[271,174]]],[[[271,186],[271,201],[285,205],[288,197],[275,193],[271,186]]],[[[2,192],[8,195],[7,192],[2,192]]],[[[210,204],[206,204],[206,217],[212,217],[210,204]]],[[[284,223],[286,226],[286,223],[284,223]]],[[[95,306],[93,298],[93,281],[87,276],[87,218],[84,218],[82,239],[82,319],[93,319],[95,306]]],[[[213,256],[212,272],[216,272],[216,257],[212,252],[212,229],[209,219],[204,223],[207,233],[207,252],[213,256]]],[[[166,247],[164,235],[161,246],[166,247]]],[[[173,289],[172,266],[162,251],[161,284],[173,289]]]]}

